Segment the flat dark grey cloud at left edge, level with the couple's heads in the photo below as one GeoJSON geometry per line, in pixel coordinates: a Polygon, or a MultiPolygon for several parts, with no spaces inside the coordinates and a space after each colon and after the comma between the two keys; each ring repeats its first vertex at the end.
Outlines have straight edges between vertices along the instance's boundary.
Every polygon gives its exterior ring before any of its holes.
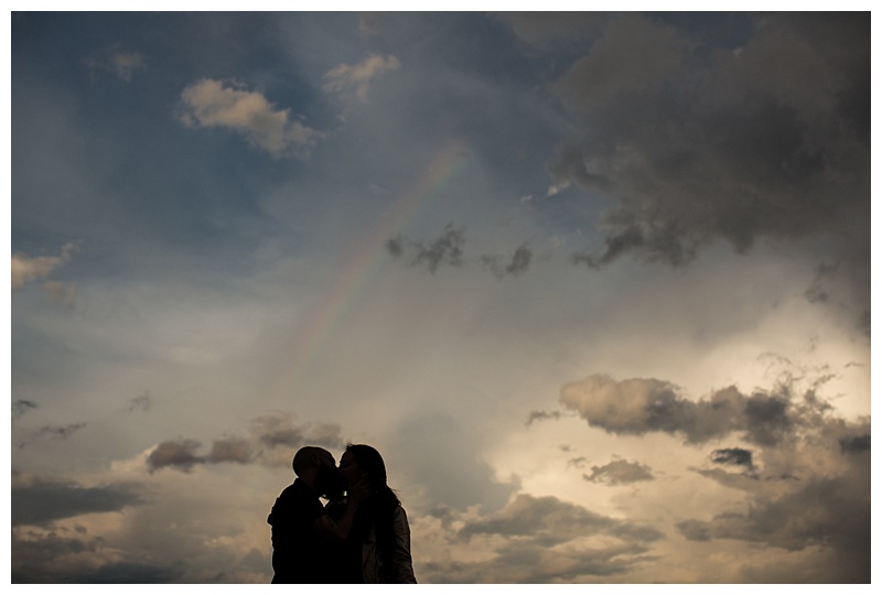
{"type": "Polygon", "coordinates": [[[111,484],[83,487],[74,482],[36,478],[12,483],[12,526],[46,526],[89,512],[117,512],[142,504],[139,487],[111,484]]]}

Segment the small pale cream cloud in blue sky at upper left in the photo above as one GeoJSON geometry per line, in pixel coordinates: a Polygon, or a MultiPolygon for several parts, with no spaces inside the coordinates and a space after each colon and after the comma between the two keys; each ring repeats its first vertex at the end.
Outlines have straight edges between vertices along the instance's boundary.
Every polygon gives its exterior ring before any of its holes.
{"type": "Polygon", "coordinates": [[[203,78],[181,93],[179,119],[190,128],[234,130],[276,158],[305,155],[323,133],[290,118],[290,111],[276,109],[260,93],[203,78]]]}

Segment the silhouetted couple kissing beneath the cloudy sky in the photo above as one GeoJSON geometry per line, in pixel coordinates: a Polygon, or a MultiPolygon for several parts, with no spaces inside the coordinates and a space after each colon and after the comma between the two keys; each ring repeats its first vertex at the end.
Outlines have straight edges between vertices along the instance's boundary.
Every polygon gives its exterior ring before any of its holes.
{"type": "Polygon", "coordinates": [[[304,446],[292,466],[297,478],[267,518],[273,583],[417,582],[407,515],[375,448],[347,445],[337,468],[331,453],[304,446]]]}

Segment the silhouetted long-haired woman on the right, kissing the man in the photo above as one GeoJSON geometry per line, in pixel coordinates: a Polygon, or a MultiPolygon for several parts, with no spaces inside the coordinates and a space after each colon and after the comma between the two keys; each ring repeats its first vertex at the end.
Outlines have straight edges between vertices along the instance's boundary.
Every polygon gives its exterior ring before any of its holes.
{"type": "Polygon", "coordinates": [[[367,496],[358,506],[344,547],[343,582],[416,583],[407,515],[386,485],[380,454],[366,444],[348,444],[340,457],[340,474],[349,486],[367,484],[367,496]]]}

